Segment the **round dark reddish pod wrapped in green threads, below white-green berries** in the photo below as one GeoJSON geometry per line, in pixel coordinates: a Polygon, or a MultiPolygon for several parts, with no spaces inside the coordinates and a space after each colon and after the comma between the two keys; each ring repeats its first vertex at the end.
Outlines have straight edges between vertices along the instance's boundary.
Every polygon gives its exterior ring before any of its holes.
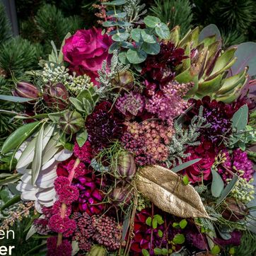
{"type": "Polygon", "coordinates": [[[43,98],[48,107],[64,110],[69,102],[69,93],[62,83],[48,84],[45,86],[43,98]]]}

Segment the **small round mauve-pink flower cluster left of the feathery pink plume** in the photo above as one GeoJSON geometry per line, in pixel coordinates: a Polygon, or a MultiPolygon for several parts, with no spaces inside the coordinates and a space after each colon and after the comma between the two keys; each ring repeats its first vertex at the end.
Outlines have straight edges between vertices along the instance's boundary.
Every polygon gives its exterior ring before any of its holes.
{"type": "Polygon", "coordinates": [[[138,115],[144,109],[144,98],[139,93],[124,93],[115,103],[117,110],[123,115],[138,115]]]}

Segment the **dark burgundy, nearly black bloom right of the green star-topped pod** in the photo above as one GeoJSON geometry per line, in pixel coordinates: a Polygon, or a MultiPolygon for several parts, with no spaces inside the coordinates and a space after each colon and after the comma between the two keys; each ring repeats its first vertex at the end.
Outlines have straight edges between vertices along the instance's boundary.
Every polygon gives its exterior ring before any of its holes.
{"type": "Polygon", "coordinates": [[[111,107],[108,101],[100,103],[86,120],[88,140],[95,149],[101,149],[112,139],[122,136],[123,120],[111,107]]]}

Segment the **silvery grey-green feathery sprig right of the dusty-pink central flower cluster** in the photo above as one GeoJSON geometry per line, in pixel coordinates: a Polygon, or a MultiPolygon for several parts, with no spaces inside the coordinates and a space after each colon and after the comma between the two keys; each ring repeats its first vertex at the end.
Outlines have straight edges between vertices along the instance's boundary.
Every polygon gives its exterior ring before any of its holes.
{"type": "Polygon", "coordinates": [[[169,146],[169,157],[167,164],[169,166],[182,163],[182,158],[190,156],[185,153],[187,146],[198,146],[200,141],[197,138],[200,135],[199,129],[209,127],[210,124],[205,124],[206,119],[203,117],[203,107],[200,107],[198,116],[194,116],[188,129],[183,130],[182,126],[177,121],[174,122],[175,135],[169,146]]]}

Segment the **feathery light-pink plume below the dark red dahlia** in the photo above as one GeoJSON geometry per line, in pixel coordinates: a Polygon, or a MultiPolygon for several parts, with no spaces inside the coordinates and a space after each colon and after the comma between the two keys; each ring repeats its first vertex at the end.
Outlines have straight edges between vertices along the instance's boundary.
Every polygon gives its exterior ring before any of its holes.
{"type": "Polygon", "coordinates": [[[146,110],[161,120],[166,120],[169,125],[173,125],[173,119],[190,106],[190,103],[187,103],[182,97],[192,86],[193,83],[173,81],[161,86],[159,91],[149,91],[151,98],[146,102],[146,110]]]}

